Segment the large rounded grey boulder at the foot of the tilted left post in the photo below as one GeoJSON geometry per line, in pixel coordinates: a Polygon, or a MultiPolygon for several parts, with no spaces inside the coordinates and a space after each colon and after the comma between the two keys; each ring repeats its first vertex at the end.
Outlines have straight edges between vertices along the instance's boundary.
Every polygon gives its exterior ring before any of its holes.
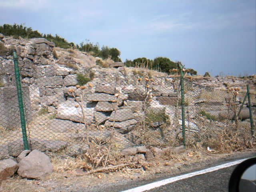
{"type": "Polygon", "coordinates": [[[42,179],[53,171],[50,158],[38,150],[30,152],[18,163],[18,166],[19,176],[28,179],[42,179]]]}

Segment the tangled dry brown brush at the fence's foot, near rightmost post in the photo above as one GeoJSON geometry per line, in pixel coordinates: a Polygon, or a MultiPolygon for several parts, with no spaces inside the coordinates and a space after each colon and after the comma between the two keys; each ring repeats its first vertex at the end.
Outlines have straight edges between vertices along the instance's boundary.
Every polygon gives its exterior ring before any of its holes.
{"type": "MultiPolygon", "coordinates": [[[[228,120],[227,120],[228,121],[228,120]]],[[[226,123],[222,129],[200,129],[194,138],[186,140],[189,147],[206,149],[208,146],[215,152],[230,153],[256,148],[256,136],[251,135],[246,122],[226,123]]]]}

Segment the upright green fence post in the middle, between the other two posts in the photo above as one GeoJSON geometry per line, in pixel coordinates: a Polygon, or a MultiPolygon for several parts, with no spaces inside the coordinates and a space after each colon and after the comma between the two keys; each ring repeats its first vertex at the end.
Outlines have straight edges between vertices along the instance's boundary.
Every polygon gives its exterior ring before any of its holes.
{"type": "Polygon", "coordinates": [[[184,79],[183,79],[183,68],[180,63],[178,63],[180,68],[180,90],[181,90],[181,115],[182,115],[182,144],[186,148],[186,135],[185,135],[185,109],[184,109],[184,79]]]}

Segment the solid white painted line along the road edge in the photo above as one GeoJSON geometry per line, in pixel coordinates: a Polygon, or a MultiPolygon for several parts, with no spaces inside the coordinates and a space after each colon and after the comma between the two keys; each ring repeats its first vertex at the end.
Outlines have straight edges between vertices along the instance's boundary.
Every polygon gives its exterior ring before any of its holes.
{"type": "MultiPolygon", "coordinates": [[[[246,158],[246,159],[248,159],[248,158],[246,158]]],[[[236,161],[233,161],[233,162],[221,164],[221,165],[211,167],[211,168],[207,168],[207,169],[204,169],[204,170],[200,170],[200,171],[196,171],[196,172],[192,172],[192,173],[188,173],[188,174],[184,174],[184,175],[180,175],[180,176],[176,176],[176,177],[171,177],[171,178],[168,178],[168,179],[165,179],[165,180],[149,183],[149,184],[139,186],[139,187],[136,187],[136,188],[132,188],[132,189],[129,189],[129,190],[125,190],[125,191],[122,191],[122,192],[143,192],[143,191],[150,190],[150,189],[153,189],[153,188],[156,188],[156,187],[160,187],[160,186],[172,183],[172,182],[176,182],[178,180],[182,180],[182,179],[190,178],[190,177],[193,177],[193,176],[196,176],[196,175],[201,175],[201,174],[205,174],[205,173],[208,173],[208,172],[213,172],[213,171],[216,171],[216,170],[219,170],[219,169],[223,169],[223,168],[226,168],[226,167],[230,167],[230,166],[239,164],[239,163],[243,162],[246,159],[236,160],[236,161]]]]}

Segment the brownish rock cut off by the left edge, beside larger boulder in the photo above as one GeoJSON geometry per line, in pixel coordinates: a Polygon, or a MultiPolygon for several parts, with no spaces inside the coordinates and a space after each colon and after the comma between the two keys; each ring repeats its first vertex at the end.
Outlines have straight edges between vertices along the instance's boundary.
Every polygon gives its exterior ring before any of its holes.
{"type": "Polygon", "coordinates": [[[12,159],[0,161],[0,181],[12,177],[17,169],[18,164],[12,159]]]}

